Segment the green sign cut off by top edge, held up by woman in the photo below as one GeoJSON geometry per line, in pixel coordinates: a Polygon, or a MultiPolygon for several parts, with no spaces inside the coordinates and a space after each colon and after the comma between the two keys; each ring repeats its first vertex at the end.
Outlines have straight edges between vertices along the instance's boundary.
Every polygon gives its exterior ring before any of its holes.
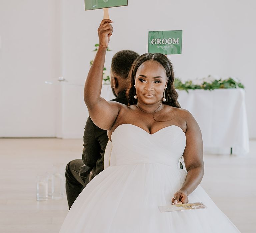
{"type": "Polygon", "coordinates": [[[85,10],[128,6],[128,0],[84,0],[85,10]]]}

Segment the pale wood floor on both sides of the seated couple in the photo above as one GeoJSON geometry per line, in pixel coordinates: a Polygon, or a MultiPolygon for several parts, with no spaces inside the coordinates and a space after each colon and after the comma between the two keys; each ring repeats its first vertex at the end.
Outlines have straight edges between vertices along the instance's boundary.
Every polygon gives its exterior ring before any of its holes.
{"type": "MultiPolygon", "coordinates": [[[[81,158],[82,139],[0,139],[0,232],[58,232],[66,198],[36,201],[35,175],[81,158]]],[[[242,233],[256,232],[256,141],[246,157],[204,155],[201,185],[242,233]]],[[[218,224],[218,223],[216,223],[218,224]]]]}

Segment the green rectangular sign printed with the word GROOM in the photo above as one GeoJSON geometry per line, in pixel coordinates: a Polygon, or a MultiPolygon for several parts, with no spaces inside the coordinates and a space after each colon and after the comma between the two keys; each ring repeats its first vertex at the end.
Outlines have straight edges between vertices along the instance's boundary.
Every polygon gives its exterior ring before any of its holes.
{"type": "Polygon", "coordinates": [[[148,32],[148,52],[181,54],[182,30],[148,32]]]}

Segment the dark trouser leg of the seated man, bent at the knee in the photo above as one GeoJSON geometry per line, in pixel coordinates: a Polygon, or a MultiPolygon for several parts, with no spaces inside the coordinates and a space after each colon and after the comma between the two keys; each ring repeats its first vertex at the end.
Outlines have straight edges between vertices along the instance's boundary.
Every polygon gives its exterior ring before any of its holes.
{"type": "Polygon", "coordinates": [[[82,159],[75,159],[70,161],[66,166],[66,193],[68,199],[69,209],[74,201],[84,189],[85,177],[79,175],[79,169],[84,165],[82,159]]]}

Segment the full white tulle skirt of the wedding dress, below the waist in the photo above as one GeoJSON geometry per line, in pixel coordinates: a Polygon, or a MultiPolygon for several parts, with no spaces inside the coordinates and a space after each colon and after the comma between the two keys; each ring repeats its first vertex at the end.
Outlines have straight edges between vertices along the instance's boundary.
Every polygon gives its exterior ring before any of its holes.
{"type": "Polygon", "coordinates": [[[110,166],[78,196],[60,232],[88,233],[220,233],[239,232],[198,186],[189,202],[207,209],[161,213],[184,184],[183,169],[162,164],[110,166]]]}

